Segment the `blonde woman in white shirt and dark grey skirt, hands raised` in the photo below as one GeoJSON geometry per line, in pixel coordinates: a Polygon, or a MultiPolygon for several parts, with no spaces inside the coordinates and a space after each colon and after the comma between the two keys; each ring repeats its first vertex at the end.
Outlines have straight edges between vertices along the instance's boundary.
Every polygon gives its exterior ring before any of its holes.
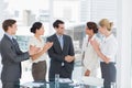
{"type": "Polygon", "coordinates": [[[116,82],[116,54],[118,50],[118,43],[112,34],[112,22],[108,19],[102,19],[99,22],[99,32],[105,35],[105,40],[99,46],[96,40],[91,41],[91,45],[101,59],[101,74],[105,79],[105,88],[111,88],[110,84],[116,82]]]}

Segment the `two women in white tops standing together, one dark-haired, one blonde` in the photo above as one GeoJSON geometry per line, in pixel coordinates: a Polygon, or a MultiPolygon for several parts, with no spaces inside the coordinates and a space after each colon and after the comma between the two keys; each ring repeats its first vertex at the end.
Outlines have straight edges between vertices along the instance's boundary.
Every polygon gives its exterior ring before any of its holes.
{"type": "Polygon", "coordinates": [[[112,34],[112,25],[108,19],[102,19],[98,28],[95,22],[88,22],[86,25],[88,37],[84,40],[82,45],[84,76],[96,77],[100,65],[105,88],[111,88],[111,82],[116,82],[117,77],[116,54],[118,43],[112,34]],[[97,37],[98,31],[103,36],[102,40],[97,37]]]}

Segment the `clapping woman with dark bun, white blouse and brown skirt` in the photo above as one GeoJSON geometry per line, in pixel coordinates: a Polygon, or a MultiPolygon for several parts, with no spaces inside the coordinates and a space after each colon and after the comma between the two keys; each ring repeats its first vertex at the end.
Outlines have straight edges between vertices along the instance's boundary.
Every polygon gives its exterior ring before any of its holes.
{"type": "Polygon", "coordinates": [[[30,38],[29,46],[36,46],[41,48],[41,52],[32,56],[32,75],[34,81],[45,81],[46,76],[46,52],[53,43],[45,43],[42,38],[42,35],[44,34],[44,25],[41,22],[33,23],[31,28],[31,32],[34,34],[30,38]],[[35,61],[34,61],[35,58],[35,61]],[[37,59],[36,59],[37,58],[37,59]]]}

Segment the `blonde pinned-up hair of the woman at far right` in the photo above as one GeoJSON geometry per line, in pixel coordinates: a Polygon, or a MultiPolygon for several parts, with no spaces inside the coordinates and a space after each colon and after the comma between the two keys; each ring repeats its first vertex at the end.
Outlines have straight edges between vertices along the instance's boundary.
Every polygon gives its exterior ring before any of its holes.
{"type": "Polygon", "coordinates": [[[110,22],[108,19],[102,19],[102,20],[99,22],[99,25],[100,25],[100,26],[106,26],[108,31],[111,31],[112,25],[113,25],[113,22],[110,22]]]}

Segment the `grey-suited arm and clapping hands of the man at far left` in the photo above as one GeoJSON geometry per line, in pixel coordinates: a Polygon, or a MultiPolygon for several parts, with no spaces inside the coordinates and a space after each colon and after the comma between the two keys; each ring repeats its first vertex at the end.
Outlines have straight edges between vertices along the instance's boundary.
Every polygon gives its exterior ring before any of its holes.
{"type": "Polygon", "coordinates": [[[15,45],[15,47],[14,47],[14,45],[11,45],[7,42],[1,44],[1,50],[2,50],[2,52],[1,52],[2,55],[6,58],[8,58],[8,59],[10,59],[14,63],[20,63],[22,61],[29,59],[31,55],[33,55],[33,54],[35,54],[40,51],[37,47],[33,46],[33,47],[30,48],[29,52],[24,52],[24,53],[21,52],[20,53],[19,45],[18,46],[15,45]]]}

